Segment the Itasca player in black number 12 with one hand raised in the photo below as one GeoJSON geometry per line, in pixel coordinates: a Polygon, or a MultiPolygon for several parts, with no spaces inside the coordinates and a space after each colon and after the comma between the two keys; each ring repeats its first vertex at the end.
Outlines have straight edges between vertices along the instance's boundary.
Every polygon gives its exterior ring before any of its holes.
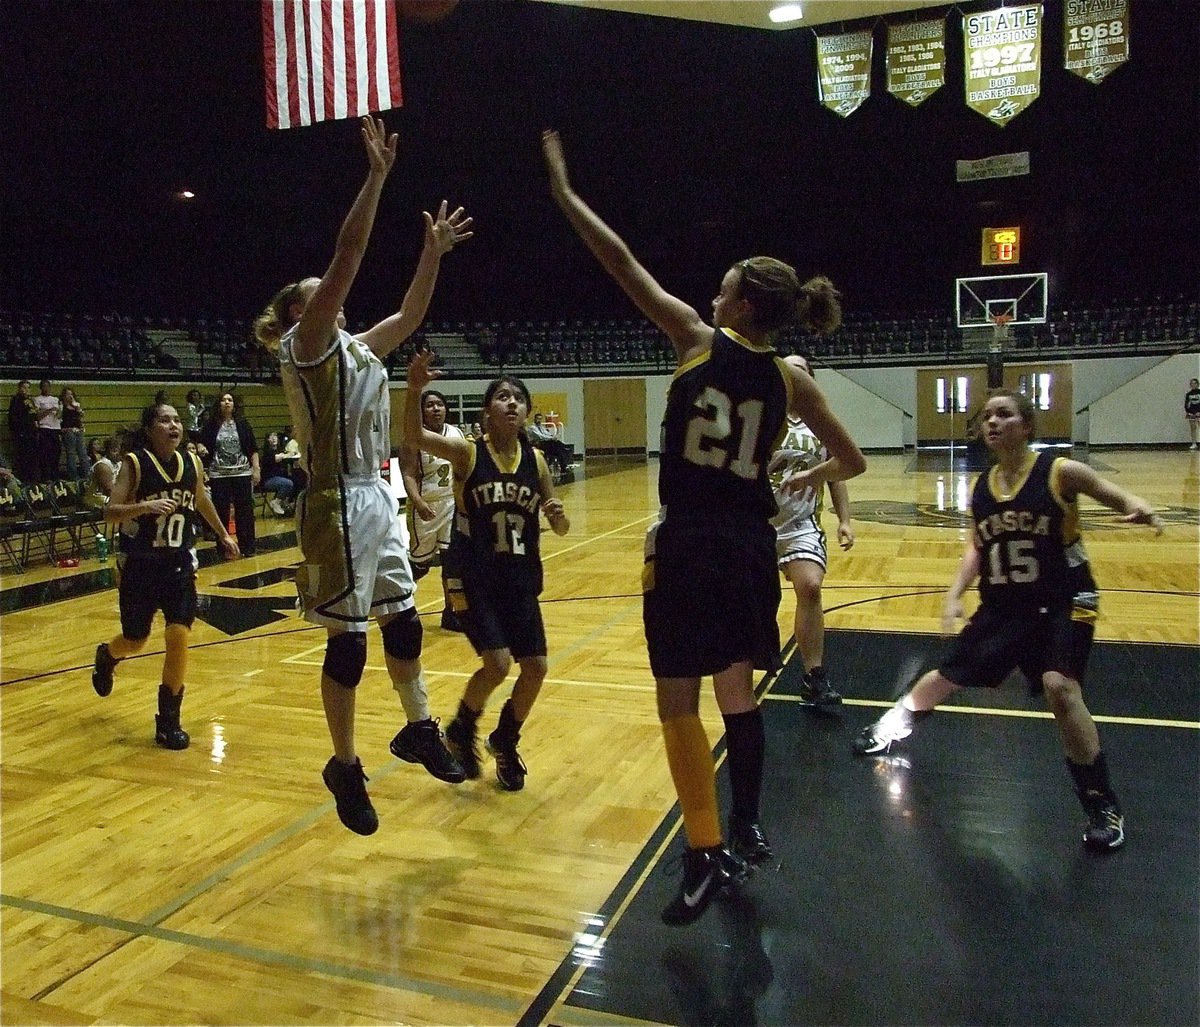
{"type": "Polygon", "coordinates": [[[520,378],[497,378],[484,394],[487,434],[478,439],[443,436],[424,427],[421,391],[440,372],[431,352],[408,367],[406,445],[450,461],[455,482],[455,524],[443,573],[450,603],[482,666],[472,674],[446,727],[446,745],[468,777],[481,773],[476,727],[488,697],[516,660],[521,667],[512,697],[487,737],[500,787],[524,787],[526,764],[517,751],[521,728],[546,679],[546,629],[538,596],[542,569],[539,512],[557,535],[571,524],[556,498],[546,457],[524,433],[529,390],[520,378]]]}

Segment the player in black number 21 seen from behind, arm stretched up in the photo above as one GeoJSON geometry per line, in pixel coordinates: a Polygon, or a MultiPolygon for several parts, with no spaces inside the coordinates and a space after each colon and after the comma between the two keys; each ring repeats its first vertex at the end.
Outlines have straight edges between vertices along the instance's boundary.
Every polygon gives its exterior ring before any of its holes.
{"type": "Polygon", "coordinates": [[[758,823],[764,745],[754,693],[755,668],[779,663],[780,587],[770,524],[775,499],[767,466],[792,413],[829,458],[796,474],[787,488],[821,488],[865,468],[816,384],[785,365],[772,342],[794,320],[832,331],[841,308],[828,278],[802,286],[787,264],[754,257],[726,271],[712,324],[706,323],[666,293],[578,197],[556,132],[542,136],[542,152],[551,193],[571,227],[667,334],[678,361],[660,444],[662,510],[646,545],[643,618],[667,762],[688,835],[679,894],[662,919],[689,924],[722,887],[745,876],[744,860],[772,857],[758,823]],[[698,713],[700,681],[708,674],[725,717],[733,853],[724,847],[713,755],[698,713]]]}

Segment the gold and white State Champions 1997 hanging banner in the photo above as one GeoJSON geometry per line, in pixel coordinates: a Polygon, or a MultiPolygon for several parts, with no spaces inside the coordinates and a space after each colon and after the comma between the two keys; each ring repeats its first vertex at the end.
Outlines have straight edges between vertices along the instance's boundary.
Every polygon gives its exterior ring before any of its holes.
{"type": "Polygon", "coordinates": [[[967,107],[1007,125],[1042,89],[1042,5],[962,18],[967,107]]]}

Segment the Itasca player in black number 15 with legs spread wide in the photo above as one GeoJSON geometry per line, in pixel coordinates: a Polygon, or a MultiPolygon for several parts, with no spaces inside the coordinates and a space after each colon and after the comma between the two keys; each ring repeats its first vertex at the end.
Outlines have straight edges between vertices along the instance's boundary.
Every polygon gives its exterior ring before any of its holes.
{"type": "Polygon", "coordinates": [[[962,617],[962,594],[979,578],[980,605],[942,666],[913,685],[854,739],[859,755],[884,752],[912,733],[914,720],[960,687],[996,687],[1014,668],[1045,692],[1087,813],[1084,845],[1106,852],[1124,843],[1124,818],[1109,780],[1096,721],[1081,683],[1099,609],[1096,581],[1079,530],[1079,497],[1116,510],[1117,519],[1163,525],[1145,499],[1100,478],[1087,464],[1030,448],[1033,404],[1008,390],[991,394],[983,431],[996,464],[971,494],[974,530],[946,595],[942,627],[962,617]]]}

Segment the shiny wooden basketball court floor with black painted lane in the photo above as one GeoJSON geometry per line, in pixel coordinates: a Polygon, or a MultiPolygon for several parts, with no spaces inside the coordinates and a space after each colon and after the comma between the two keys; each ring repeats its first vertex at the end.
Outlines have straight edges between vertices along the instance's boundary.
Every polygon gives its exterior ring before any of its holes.
{"type": "MultiPolygon", "coordinates": [[[[1168,523],[1156,540],[1084,511],[1103,590],[1086,695],[1124,849],[1082,852],[1052,726],[1019,683],[964,696],[901,752],[850,755],[936,660],[966,537],[970,474],[875,456],[850,484],[858,543],[830,554],[824,590],[848,702],[805,716],[794,663],[762,683],[779,860],[684,930],[658,920],[682,842],[641,632],[653,462],[593,460],[562,488],[572,531],[544,535],[551,667],[526,791],[499,792],[488,764],[450,786],[394,759],[402,715],[371,637],[368,839],[320,782],[323,633],[292,612],[287,522],[260,522],[256,558],[200,571],[179,753],[152,743],[161,625],[109,698],[91,690],[118,626],[110,571],[5,576],[0,1021],[1196,1022],[1200,462],[1091,458],[1168,523]]],[[[449,719],[475,657],[438,627],[438,590],[425,578],[419,605],[449,719]]],[[[785,594],[785,638],[792,611],[785,594]]],[[[722,753],[708,693],[702,715],[722,753]]]]}

